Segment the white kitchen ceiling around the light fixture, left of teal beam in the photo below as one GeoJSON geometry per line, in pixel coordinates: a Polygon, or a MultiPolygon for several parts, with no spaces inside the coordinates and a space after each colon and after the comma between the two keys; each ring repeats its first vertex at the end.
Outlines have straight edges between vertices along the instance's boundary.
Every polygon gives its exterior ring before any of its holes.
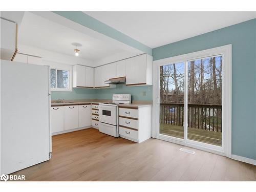
{"type": "Polygon", "coordinates": [[[122,52],[120,48],[52,22],[30,12],[25,12],[19,27],[18,43],[57,53],[74,55],[72,42],[82,44],[78,47],[79,57],[98,60],[122,52]]]}

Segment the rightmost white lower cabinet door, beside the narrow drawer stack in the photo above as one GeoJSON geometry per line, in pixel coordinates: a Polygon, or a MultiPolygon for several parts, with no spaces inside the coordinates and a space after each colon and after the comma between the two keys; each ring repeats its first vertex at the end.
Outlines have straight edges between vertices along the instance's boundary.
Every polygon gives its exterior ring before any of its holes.
{"type": "Polygon", "coordinates": [[[91,105],[79,105],[79,127],[91,125],[91,105]]]}

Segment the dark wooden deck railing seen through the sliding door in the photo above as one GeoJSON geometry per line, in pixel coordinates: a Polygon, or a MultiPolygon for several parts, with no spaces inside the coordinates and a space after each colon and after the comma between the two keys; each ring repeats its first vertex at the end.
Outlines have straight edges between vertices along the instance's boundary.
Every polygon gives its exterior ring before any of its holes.
{"type": "MultiPolygon", "coordinates": [[[[188,127],[222,132],[222,105],[188,104],[188,127]]],[[[184,103],[160,103],[160,123],[184,126],[184,103]]]]}

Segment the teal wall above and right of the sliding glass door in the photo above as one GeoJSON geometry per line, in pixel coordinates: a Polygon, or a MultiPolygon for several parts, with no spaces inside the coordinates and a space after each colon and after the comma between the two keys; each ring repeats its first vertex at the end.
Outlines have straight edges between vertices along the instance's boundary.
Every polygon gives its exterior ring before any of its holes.
{"type": "Polygon", "coordinates": [[[232,154],[256,159],[256,19],[153,49],[158,60],[232,44],[232,154]]]}

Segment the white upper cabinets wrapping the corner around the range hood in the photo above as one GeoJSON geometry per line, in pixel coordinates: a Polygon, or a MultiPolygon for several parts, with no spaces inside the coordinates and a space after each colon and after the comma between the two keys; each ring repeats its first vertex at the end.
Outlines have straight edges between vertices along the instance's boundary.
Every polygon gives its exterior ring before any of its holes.
{"type": "Polygon", "coordinates": [[[126,86],[152,85],[153,57],[147,54],[112,62],[95,68],[73,66],[73,87],[115,88],[105,80],[126,77],[126,86]],[[94,81],[94,82],[93,82],[94,81]]]}

